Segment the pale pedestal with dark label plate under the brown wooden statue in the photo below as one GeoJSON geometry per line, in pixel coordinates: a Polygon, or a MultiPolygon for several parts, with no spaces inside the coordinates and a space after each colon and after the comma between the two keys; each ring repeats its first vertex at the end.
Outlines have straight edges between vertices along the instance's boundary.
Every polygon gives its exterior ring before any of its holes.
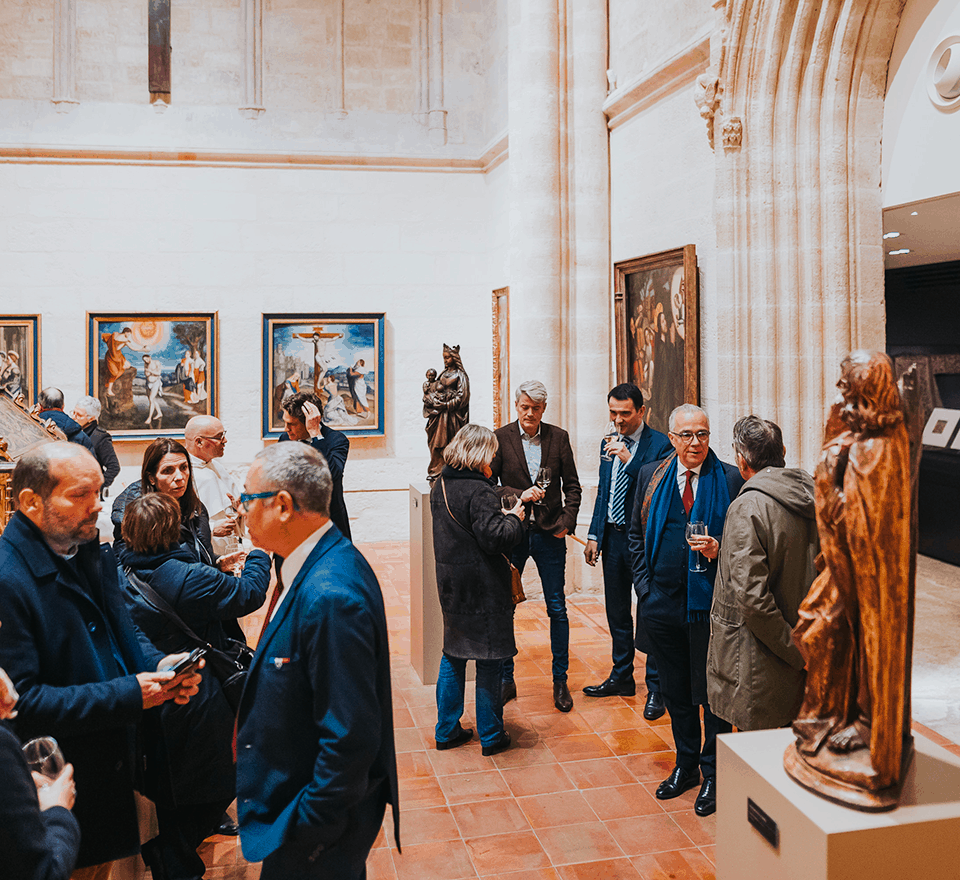
{"type": "Polygon", "coordinates": [[[842,807],[783,769],[790,730],[717,743],[717,880],[908,880],[960,876],[960,758],[915,737],[900,806],[842,807]],[[747,822],[750,798],[776,822],[774,848],[747,822]]]}

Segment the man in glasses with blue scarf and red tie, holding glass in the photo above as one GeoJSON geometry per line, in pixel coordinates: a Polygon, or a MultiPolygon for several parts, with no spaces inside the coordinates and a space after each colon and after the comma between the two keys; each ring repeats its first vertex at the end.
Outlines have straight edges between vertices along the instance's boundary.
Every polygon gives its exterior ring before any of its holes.
{"type": "Polygon", "coordinates": [[[710,420],[699,406],[678,406],[670,413],[669,429],[674,453],[640,470],[627,543],[639,613],[657,661],[677,751],[676,766],[656,796],[679,797],[700,782],[702,773],[694,812],[709,816],[717,809],[717,734],[732,730],[707,702],[717,537],[744,480],[711,451],[710,420]],[[697,522],[705,525],[706,534],[691,536],[688,543],[687,525],[697,522]]]}

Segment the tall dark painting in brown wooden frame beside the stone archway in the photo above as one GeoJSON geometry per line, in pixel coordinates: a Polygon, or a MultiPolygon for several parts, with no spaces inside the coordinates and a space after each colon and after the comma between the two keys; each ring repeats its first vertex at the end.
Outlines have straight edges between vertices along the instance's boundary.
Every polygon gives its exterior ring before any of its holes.
{"type": "Polygon", "coordinates": [[[700,403],[697,253],[692,244],[614,264],[617,380],[639,386],[647,424],[700,403]]]}

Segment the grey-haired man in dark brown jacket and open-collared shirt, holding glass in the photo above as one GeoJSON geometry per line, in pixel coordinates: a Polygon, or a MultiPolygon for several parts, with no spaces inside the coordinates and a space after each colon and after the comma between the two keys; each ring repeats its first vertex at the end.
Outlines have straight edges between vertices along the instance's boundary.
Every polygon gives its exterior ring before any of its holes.
{"type": "MultiPolygon", "coordinates": [[[[514,548],[510,561],[521,572],[530,557],[537,565],[550,618],[553,704],[559,711],[569,712],[573,708],[567,687],[570,622],[563,588],[566,537],[577,527],[580,481],[567,432],[542,421],[547,408],[544,384],[524,382],[517,388],[515,399],[517,421],[495,432],[500,448],[490,467],[493,479],[504,487],[502,494],[519,495],[527,505],[527,531],[514,548]],[[550,469],[550,481],[545,489],[537,485],[540,468],[550,469]]],[[[517,695],[512,659],[503,664],[503,677],[503,702],[506,703],[517,695]]]]}

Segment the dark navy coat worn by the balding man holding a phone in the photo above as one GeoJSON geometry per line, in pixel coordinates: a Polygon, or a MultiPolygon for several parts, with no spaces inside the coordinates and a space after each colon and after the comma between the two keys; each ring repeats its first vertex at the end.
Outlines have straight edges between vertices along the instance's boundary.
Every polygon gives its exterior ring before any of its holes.
{"type": "Polygon", "coordinates": [[[136,673],[163,654],[130,620],[113,550],[91,541],[74,560],[89,588],[22,513],[0,535],[0,666],[20,693],[14,726],[22,740],[55,737],[74,765],[85,867],[139,851],[136,673]]]}

